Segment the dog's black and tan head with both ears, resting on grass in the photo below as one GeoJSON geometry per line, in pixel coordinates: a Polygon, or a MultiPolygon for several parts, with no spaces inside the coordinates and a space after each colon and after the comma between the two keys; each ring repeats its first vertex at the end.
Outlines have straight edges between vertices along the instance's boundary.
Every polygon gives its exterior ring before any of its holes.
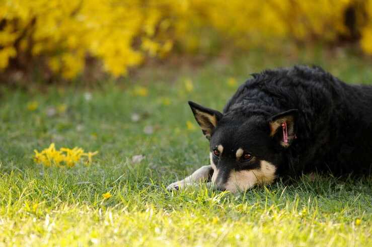
{"type": "Polygon", "coordinates": [[[189,105],[210,142],[212,182],[217,188],[236,192],[274,181],[284,162],[283,150],[295,139],[297,110],[265,118],[189,105]]]}

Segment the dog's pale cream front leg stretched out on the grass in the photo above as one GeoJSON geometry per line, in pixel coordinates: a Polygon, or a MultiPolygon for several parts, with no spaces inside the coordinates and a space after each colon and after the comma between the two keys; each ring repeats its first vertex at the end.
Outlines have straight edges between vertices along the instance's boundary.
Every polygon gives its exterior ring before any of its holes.
{"type": "Polygon", "coordinates": [[[213,175],[213,169],[211,166],[203,166],[196,170],[193,174],[189,177],[177,181],[168,185],[168,190],[179,190],[180,188],[184,188],[188,185],[196,185],[200,182],[209,182],[213,175]]]}

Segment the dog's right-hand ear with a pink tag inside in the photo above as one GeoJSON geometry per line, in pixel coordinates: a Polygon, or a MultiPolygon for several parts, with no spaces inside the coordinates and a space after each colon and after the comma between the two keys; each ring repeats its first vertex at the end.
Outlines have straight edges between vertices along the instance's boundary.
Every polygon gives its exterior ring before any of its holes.
{"type": "Polygon", "coordinates": [[[292,109],[272,116],[269,119],[270,136],[279,141],[283,147],[288,147],[296,138],[295,122],[299,110],[292,109]]]}

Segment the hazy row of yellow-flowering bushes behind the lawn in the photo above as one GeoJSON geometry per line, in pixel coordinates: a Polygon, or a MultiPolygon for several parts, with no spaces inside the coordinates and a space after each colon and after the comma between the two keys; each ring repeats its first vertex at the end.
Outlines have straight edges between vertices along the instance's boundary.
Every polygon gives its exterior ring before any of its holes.
{"type": "Polygon", "coordinates": [[[372,54],[372,0],[4,0],[0,70],[45,62],[73,78],[93,57],[118,76],[146,57],[203,50],[211,37],[249,48],[335,42],[355,32],[372,54]],[[348,10],[353,27],[345,22],[348,10]]]}

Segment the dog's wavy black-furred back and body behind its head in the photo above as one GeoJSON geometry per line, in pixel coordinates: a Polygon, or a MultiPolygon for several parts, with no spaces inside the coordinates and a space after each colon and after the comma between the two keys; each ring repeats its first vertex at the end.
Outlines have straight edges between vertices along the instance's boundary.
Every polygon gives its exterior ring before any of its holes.
{"type": "Polygon", "coordinates": [[[369,173],[372,163],[372,87],[347,85],[320,67],[295,66],[253,74],[224,115],[266,118],[298,109],[296,141],[282,172],[369,173]]]}

